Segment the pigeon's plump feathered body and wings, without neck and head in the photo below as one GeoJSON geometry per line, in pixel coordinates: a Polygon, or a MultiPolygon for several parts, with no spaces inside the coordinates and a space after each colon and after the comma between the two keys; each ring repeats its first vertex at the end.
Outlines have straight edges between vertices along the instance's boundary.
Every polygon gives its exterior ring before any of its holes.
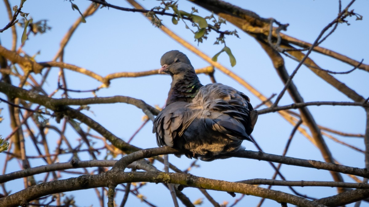
{"type": "Polygon", "coordinates": [[[210,161],[239,150],[243,140],[251,141],[255,112],[245,94],[220,83],[208,84],[192,102],[166,106],[154,121],[154,132],[158,145],[210,161]]]}

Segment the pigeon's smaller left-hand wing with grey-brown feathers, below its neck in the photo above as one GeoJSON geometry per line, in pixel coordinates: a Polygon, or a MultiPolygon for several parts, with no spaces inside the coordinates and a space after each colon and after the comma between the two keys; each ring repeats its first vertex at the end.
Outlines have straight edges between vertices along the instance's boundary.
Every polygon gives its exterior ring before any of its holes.
{"type": "Polygon", "coordinates": [[[166,106],[154,120],[153,133],[156,133],[158,146],[173,147],[173,140],[182,136],[192,123],[198,110],[191,110],[187,102],[173,102],[166,106]]]}

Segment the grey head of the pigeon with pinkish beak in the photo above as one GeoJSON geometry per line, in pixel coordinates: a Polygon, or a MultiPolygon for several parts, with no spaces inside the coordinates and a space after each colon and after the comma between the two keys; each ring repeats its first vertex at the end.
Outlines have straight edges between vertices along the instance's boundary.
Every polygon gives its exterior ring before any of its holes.
{"type": "Polygon", "coordinates": [[[161,69],[159,73],[164,72],[171,76],[185,73],[186,70],[193,70],[190,60],[182,52],[171,50],[164,53],[160,59],[161,69]]]}

